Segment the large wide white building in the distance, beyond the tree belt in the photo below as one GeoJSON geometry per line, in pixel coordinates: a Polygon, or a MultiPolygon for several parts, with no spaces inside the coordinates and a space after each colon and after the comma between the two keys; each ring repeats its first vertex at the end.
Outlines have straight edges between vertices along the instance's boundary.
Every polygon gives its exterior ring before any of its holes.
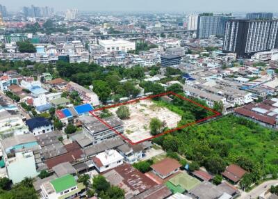
{"type": "Polygon", "coordinates": [[[136,43],[128,40],[99,40],[99,45],[103,47],[106,52],[128,52],[136,49],[136,43]]]}

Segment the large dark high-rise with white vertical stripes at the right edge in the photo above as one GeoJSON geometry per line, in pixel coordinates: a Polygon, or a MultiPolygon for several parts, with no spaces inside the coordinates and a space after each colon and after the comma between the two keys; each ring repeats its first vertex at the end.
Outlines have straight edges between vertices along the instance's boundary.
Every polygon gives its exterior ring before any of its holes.
{"type": "Polygon", "coordinates": [[[231,19],[226,23],[223,51],[250,57],[277,47],[278,20],[231,19]]]}

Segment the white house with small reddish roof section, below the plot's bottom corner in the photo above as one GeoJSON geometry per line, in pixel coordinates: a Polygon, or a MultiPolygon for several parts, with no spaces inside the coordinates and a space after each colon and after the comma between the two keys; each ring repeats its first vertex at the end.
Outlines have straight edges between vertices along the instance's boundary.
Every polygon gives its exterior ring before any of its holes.
{"type": "Polygon", "coordinates": [[[92,161],[99,173],[102,173],[123,164],[124,157],[116,150],[106,150],[105,152],[97,154],[96,157],[93,157],[92,161]]]}

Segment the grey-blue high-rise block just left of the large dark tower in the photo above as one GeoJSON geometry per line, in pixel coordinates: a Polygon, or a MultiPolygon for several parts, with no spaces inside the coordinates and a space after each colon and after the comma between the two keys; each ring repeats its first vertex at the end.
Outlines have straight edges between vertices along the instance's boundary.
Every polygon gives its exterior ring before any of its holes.
{"type": "Polygon", "coordinates": [[[198,17],[197,38],[205,39],[211,35],[224,36],[225,23],[231,16],[204,13],[198,17]]]}

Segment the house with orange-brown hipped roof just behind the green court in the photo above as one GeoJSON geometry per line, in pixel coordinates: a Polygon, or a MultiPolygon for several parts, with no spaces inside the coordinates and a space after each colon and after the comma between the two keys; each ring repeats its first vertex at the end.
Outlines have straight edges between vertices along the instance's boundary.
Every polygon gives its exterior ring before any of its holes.
{"type": "Polygon", "coordinates": [[[151,166],[152,172],[162,179],[179,172],[180,167],[181,164],[177,160],[168,157],[151,166]]]}

